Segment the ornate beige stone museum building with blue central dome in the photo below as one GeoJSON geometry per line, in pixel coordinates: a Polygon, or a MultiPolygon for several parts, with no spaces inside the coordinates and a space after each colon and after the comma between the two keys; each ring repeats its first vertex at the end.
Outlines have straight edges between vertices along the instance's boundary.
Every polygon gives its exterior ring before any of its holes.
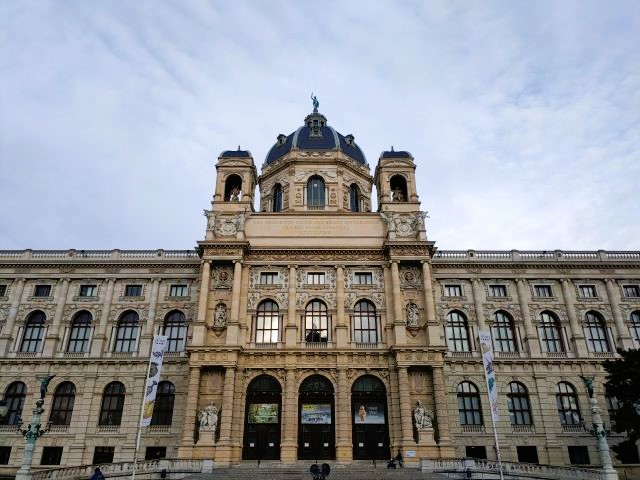
{"type": "Polygon", "coordinates": [[[413,156],[371,172],[315,107],[260,174],[220,154],[195,250],[0,251],[0,473],[45,375],[34,465],[131,461],[156,334],[144,458],[493,459],[490,330],[503,459],[599,464],[580,376],[610,425],[601,363],[639,345],[640,253],[437,249],[413,156]]]}

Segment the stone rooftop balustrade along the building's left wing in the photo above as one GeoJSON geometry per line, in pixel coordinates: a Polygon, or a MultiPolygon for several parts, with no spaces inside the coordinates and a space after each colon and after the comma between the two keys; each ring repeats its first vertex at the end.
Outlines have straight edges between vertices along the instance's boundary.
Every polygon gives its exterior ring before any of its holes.
{"type": "Polygon", "coordinates": [[[197,259],[195,250],[0,250],[0,259],[150,260],[197,259]]]}

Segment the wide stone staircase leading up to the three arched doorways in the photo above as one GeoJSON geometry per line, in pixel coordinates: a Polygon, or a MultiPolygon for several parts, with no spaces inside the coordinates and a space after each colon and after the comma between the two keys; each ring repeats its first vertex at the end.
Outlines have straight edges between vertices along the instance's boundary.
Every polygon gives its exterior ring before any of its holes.
{"type": "MultiPolygon", "coordinates": [[[[280,462],[244,462],[231,468],[216,468],[212,473],[190,475],[185,480],[313,480],[309,467],[314,462],[284,465],[280,462]]],[[[319,462],[320,464],[322,462],[319,462]]],[[[446,476],[421,472],[418,468],[386,468],[386,462],[354,462],[343,465],[327,461],[331,473],[327,480],[442,480],[446,476]]]]}

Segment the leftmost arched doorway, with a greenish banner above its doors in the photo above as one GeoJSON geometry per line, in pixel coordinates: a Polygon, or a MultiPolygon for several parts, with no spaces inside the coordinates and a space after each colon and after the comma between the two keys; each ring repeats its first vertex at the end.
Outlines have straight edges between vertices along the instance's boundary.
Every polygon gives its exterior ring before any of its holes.
{"type": "Polygon", "coordinates": [[[261,375],[247,388],[244,415],[244,460],[280,460],[282,388],[273,377],[261,375]]]}

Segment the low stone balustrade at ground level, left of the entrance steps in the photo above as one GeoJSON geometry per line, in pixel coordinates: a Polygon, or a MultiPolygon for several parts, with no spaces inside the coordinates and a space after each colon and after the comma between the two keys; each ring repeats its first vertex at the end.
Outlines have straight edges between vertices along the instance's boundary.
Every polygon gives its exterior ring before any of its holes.
{"type": "MultiPolygon", "coordinates": [[[[176,476],[175,474],[200,473],[203,471],[203,464],[202,460],[145,460],[137,463],[136,474],[146,474],[146,478],[149,478],[151,473],[167,470],[167,472],[171,472],[170,478],[182,478],[184,475],[176,476]]],[[[84,480],[93,474],[95,467],[96,465],[81,465],[78,467],[41,470],[32,473],[31,478],[32,480],[84,480]]],[[[133,462],[101,464],[100,470],[107,478],[131,478],[133,462]]]]}

